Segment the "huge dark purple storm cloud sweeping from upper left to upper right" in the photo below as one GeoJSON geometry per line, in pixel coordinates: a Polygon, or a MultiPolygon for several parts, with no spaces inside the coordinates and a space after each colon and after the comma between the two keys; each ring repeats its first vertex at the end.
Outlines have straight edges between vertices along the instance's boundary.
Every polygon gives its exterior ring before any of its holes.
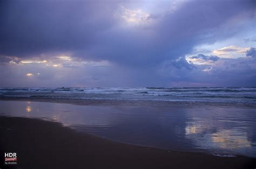
{"type": "Polygon", "coordinates": [[[252,2],[187,2],[156,18],[157,24],[120,29],[114,17],[120,5],[114,1],[1,1],[0,51],[17,57],[73,52],[91,60],[157,64],[191,52],[206,41],[205,31],[216,32],[207,41],[225,38],[218,27],[252,12],[252,2]]]}

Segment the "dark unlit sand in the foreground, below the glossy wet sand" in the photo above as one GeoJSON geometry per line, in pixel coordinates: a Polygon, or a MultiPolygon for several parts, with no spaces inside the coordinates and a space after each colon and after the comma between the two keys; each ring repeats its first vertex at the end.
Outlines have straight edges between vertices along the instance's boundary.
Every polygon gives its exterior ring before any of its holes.
{"type": "Polygon", "coordinates": [[[252,168],[256,159],[216,157],[116,143],[41,119],[0,116],[0,167],[16,152],[12,168],[252,168]]]}

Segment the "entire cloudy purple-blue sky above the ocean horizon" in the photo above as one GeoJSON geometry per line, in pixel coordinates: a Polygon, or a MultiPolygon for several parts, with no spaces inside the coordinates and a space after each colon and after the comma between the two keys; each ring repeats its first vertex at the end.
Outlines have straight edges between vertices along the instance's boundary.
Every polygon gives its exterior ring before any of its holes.
{"type": "Polygon", "coordinates": [[[256,87],[256,1],[0,1],[0,87],[256,87]]]}

